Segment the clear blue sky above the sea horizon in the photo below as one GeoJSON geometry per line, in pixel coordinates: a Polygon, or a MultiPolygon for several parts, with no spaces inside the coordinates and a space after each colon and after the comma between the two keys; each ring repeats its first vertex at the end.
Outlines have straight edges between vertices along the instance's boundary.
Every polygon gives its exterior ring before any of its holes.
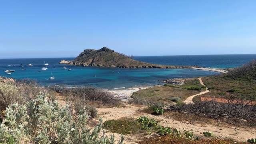
{"type": "Polygon", "coordinates": [[[255,54],[256,0],[0,0],[0,58],[255,54]]]}

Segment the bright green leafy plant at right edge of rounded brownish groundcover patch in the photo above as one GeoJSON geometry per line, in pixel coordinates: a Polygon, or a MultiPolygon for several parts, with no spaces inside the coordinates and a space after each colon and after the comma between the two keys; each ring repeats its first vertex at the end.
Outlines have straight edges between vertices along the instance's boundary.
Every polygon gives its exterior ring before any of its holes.
{"type": "Polygon", "coordinates": [[[154,118],[148,118],[147,116],[140,116],[137,118],[137,122],[142,126],[144,130],[151,130],[158,126],[158,121],[154,118]]]}

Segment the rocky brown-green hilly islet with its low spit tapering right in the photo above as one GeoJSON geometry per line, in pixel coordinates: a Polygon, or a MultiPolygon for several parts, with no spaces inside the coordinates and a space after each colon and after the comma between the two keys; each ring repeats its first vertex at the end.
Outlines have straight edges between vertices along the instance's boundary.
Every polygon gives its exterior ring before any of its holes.
{"type": "Polygon", "coordinates": [[[62,60],[60,64],[72,64],[76,66],[95,66],[112,68],[190,68],[198,70],[209,70],[214,72],[226,73],[227,70],[217,68],[202,68],[199,66],[170,66],[160,64],[150,64],[132,59],[130,56],[120,54],[107,47],[99,50],[85,49],[73,61],[62,60]]]}

